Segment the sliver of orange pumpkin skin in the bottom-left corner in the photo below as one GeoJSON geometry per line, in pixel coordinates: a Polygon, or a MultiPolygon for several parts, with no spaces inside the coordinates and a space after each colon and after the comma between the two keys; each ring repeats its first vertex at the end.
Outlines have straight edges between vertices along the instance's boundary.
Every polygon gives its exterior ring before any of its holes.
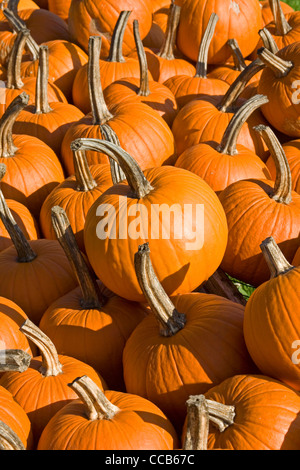
{"type": "Polygon", "coordinates": [[[12,394],[1,386],[0,421],[3,421],[17,434],[26,450],[33,450],[33,436],[29,418],[12,394]]]}

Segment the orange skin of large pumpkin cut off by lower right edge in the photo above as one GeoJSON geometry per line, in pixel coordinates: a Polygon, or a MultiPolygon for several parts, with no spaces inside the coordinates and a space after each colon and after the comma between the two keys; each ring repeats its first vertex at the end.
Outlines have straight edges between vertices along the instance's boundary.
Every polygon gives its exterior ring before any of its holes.
{"type": "Polygon", "coordinates": [[[295,268],[261,285],[247,303],[244,320],[247,349],[259,370],[297,391],[300,369],[292,361],[292,345],[300,338],[299,283],[300,268],[295,268]]]}

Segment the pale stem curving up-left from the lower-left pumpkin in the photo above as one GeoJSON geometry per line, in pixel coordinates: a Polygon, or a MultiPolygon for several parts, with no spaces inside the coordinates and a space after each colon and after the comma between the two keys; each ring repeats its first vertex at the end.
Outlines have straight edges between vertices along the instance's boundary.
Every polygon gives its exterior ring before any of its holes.
{"type": "Polygon", "coordinates": [[[40,350],[42,356],[41,374],[44,377],[55,377],[61,374],[62,365],[59,362],[56,348],[51,339],[29,319],[23,323],[20,331],[40,350]]]}

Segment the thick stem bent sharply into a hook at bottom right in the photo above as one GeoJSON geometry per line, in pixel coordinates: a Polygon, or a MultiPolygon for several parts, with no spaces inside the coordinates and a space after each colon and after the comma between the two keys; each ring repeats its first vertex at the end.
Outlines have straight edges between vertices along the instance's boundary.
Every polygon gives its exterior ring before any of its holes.
{"type": "Polygon", "coordinates": [[[191,396],[187,402],[187,431],[184,450],[207,450],[209,422],[224,432],[234,424],[235,407],[207,400],[204,395],[191,396]]]}

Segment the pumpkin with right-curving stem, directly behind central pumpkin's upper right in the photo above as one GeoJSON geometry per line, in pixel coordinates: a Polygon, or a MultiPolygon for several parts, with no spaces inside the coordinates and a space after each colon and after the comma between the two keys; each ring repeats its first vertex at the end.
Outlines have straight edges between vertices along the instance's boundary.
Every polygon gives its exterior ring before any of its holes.
{"type": "Polygon", "coordinates": [[[243,124],[267,100],[267,97],[261,95],[250,98],[236,111],[220,143],[203,142],[188,148],[180,155],[175,166],[200,176],[216,193],[235,181],[247,178],[271,179],[262,160],[251,150],[237,144],[243,124]]]}

